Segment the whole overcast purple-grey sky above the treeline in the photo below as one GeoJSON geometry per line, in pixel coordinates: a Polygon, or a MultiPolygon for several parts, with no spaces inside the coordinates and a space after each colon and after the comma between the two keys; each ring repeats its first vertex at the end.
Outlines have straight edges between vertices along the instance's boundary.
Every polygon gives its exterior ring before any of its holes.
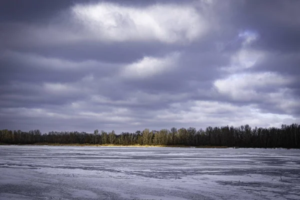
{"type": "Polygon", "coordinates": [[[300,121],[299,0],[1,0],[0,128],[300,121]]]}

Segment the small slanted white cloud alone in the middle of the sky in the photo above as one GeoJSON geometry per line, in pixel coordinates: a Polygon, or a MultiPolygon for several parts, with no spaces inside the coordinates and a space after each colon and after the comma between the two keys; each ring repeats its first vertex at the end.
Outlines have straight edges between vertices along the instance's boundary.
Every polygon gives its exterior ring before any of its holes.
{"type": "Polygon", "coordinates": [[[165,57],[157,58],[145,56],[142,59],[124,66],[120,70],[120,76],[126,78],[146,78],[176,67],[179,53],[171,53],[165,57]]]}

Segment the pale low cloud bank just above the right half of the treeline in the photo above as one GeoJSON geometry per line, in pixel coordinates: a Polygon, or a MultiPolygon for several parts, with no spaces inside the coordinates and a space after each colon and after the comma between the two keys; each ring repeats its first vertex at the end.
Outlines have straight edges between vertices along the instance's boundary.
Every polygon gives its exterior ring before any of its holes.
{"type": "MultiPolygon", "coordinates": [[[[249,124],[251,126],[277,126],[296,122],[289,114],[263,113],[255,104],[234,105],[220,101],[195,100],[172,104],[172,109],[156,111],[154,121],[173,122],[178,125],[207,127],[249,124]],[[174,112],[173,110],[180,110],[174,112]]],[[[177,126],[178,126],[177,125],[177,126]]]]}

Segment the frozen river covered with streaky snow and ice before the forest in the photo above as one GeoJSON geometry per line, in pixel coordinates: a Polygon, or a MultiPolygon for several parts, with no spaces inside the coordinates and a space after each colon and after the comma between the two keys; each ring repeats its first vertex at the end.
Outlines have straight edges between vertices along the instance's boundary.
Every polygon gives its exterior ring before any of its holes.
{"type": "Polygon", "coordinates": [[[0,199],[300,199],[300,150],[0,146],[0,199]]]}

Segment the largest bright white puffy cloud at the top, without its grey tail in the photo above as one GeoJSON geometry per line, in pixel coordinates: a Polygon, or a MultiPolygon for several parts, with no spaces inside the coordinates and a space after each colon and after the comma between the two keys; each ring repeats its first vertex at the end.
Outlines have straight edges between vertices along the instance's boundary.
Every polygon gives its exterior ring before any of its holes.
{"type": "Polygon", "coordinates": [[[103,41],[193,41],[208,28],[201,13],[189,5],[130,7],[99,2],[76,4],[71,10],[86,36],[103,41]]]}

